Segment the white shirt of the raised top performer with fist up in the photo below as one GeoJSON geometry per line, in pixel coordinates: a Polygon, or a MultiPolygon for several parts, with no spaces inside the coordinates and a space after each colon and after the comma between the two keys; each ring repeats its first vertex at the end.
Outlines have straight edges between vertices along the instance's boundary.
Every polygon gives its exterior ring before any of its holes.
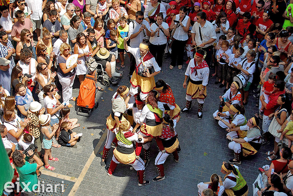
{"type": "Polygon", "coordinates": [[[134,56],[136,65],[140,65],[138,67],[138,70],[140,72],[144,71],[144,66],[148,68],[153,66],[153,68],[155,69],[155,72],[158,72],[161,70],[161,68],[158,66],[158,63],[156,62],[156,59],[154,57],[141,63],[142,62],[141,59],[143,60],[144,56],[143,57],[141,56],[139,48],[128,47],[127,52],[130,52],[134,56]]]}

